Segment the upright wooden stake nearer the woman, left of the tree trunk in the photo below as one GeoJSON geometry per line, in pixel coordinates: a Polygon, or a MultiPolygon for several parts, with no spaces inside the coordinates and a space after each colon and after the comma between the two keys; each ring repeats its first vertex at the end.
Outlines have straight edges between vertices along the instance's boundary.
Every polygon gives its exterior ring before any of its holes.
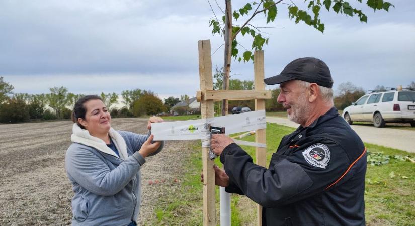
{"type": "MultiPolygon", "coordinates": [[[[210,40],[198,41],[200,90],[212,90],[212,59],[210,40]]],[[[201,100],[202,119],[213,117],[213,100],[201,100]]],[[[203,225],[216,226],[215,171],[213,161],[208,157],[209,148],[202,148],[203,165],[203,225]]]]}

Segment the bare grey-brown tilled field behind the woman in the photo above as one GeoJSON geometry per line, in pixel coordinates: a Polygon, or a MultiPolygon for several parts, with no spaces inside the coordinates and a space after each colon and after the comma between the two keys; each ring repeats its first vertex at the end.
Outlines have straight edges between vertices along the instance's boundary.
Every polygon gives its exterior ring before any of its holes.
{"type": "MultiPolygon", "coordinates": [[[[116,130],[145,134],[146,119],[113,119],[116,130]]],[[[0,125],[0,225],[70,225],[73,195],[64,158],[71,144],[72,122],[0,125]]],[[[147,158],[142,171],[140,222],[153,203],[178,185],[186,143],[167,142],[147,158]],[[149,180],[158,181],[149,184],[149,180]]]]}

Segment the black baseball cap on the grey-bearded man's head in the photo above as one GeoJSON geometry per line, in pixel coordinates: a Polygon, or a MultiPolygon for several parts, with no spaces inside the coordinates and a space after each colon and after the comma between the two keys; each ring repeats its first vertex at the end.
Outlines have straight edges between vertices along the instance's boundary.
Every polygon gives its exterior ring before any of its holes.
{"type": "Polygon", "coordinates": [[[314,57],[293,60],[285,66],[281,74],[266,78],[264,82],[267,85],[275,85],[294,79],[317,83],[327,88],[333,86],[330,69],[322,60],[314,57]]]}

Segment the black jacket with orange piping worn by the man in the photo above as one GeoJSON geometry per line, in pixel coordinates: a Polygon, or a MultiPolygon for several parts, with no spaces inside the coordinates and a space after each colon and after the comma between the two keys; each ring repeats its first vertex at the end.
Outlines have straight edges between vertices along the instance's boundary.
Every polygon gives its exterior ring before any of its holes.
{"type": "Polygon", "coordinates": [[[226,191],[263,206],[263,225],[364,225],[366,148],[331,108],[282,138],[267,168],[238,145],[220,156],[226,191]]]}

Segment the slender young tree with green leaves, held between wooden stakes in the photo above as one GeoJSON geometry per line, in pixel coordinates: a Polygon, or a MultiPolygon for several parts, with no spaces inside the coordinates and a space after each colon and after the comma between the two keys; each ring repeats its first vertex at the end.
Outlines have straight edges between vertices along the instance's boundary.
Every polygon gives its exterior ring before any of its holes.
{"type": "MultiPolygon", "coordinates": [[[[359,3],[362,3],[362,0],[357,0],[359,3]]],[[[208,0],[209,2],[209,0],[208,0]]],[[[229,84],[229,73],[230,73],[230,61],[231,58],[237,58],[238,61],[247,62],[254,60],[253,51],[262,50],[264,44],[268,44],[269,39],[263,36],[263,32],[259,26],[252,25],[251,20],[257,15],[264,13],[267,20],[266,24],[274,22],[277,16],[277,5],[283,5],[288,7],[288,17],[294,19],[295,23],[302,21],[303,23],[313,26],[320,32],[324,32],[324,23],[321,23],[320,20],[320,10],[325,8],[327,11],[333,9],[337,14],[345,14],[350,17],[358,16],[359,20],[367,22],[367,16],[359,9],[354,8],[350,5],[349,2],[343,0],[305,0],[307,9],[300,9],[292,0],[260,0],[252,3],[246,3],[242,8],[232,12],[231,0],[225,0],[225,12],[219,20],[216,17],[215,12],[213,11],[214,18],[209,20],[209,26],[212,27],[212,33],[219,34],[224,37],[224,73],[223,73],[223,89],[228,89],[229,84]],[[312,12],[312,13],[311,13],[312,12]],[[232,24],[232,20],[237,21],[238,19],[246,19],[242,22],[241,26],[236,26],[232,24]],[[222,26],[224,28],[222,28],[222,26]],[[243,53],[239,51],[240,45],[236,39],[238,34],[242,34],[242,37],[247,35],[251,36],[252,46],[251,51],[245,49],[243,53]]],[[[210,5],[210,2],[209,2],[210,5]]],[[[383,0],[368,0],[366,5],[370,8],[376,10],[389,10],[390,6],[393,6],[389,2],[384,2],[383,0]]],[[[394,7],[394,6],[393,6],[394,7]]],[[[244,47],[243,47],[244,48],[244,47]]],[[[225,114],[226,101],[222,103],[222,114],[225,114]]]]}

